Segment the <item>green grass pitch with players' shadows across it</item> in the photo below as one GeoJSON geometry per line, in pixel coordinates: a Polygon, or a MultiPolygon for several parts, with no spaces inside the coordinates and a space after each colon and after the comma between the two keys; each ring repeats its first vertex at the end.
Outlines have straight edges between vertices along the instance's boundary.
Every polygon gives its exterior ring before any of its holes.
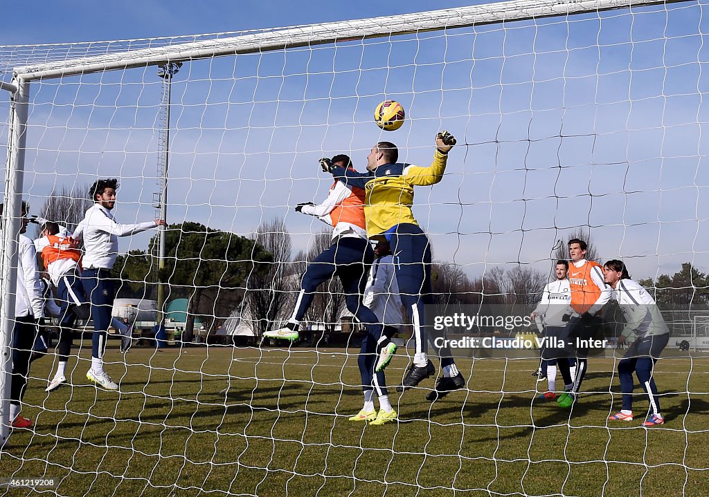
{"type": "MultiPolygon", "coordinates": [[[[0,476],[92,497],[709,495],[709,358],[658,363],[666,424],[649,430],[639,386],[636,420],[605,421],[620,409],[612,358],[589,360],[571,413],[535,399],[535,360],[486,358],[459,361],[468,390],[434,404],[432,379],[391,388],[400,422],[374,427],[347,421],[362,402],[356,353],[134,348],[124,363],[111,346],[116,393],[87,382],[85,344],[70,385],[48,395],[50,355],[30,372],[23,415],[35,427],[14,430],[0,476]]],[[[407,365],[392,361],[390,384],[407,365]]]]}

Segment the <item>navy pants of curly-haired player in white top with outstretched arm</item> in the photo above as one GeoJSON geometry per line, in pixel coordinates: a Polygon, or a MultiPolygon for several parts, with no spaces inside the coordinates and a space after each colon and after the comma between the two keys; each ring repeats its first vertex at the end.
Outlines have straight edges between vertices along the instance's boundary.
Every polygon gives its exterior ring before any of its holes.
{"type": "Polygon", "coordinates": [[[84,269],[82,273],[84,294],[91,302],[91,319],[94,320],[94,336],[91,338],[91,356],[103,358],[106,350],[108,326],[113,314],[113,290],[110,269],[84,269]]]}

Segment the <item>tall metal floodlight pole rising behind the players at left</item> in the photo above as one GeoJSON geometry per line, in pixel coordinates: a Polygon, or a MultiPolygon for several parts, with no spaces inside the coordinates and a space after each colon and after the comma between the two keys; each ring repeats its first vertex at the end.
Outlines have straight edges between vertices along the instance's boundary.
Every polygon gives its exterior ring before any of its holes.
{"type": "MultiPolygon", "coordinates": [[[[157,205],[155,208],[160,210],[158,217],[167,219],[167,165],[170,149],[170,87],[172,86],[172,76],[177,74],[179,68],[182,67],[182,62],[167,62],[157,67],[157,75],[162,78],[162,128],[160,130],[160,153],[157,158],[157,177],[160,192],[157,193],[157,205]]],[[[166,227],[160,227],[160,246],[157,254],[157,325],[158,329],[164,326],[165,304],[165,287],[160,281],[160,273],[165,267],[165,236],[167,234],[166,227]]]]}

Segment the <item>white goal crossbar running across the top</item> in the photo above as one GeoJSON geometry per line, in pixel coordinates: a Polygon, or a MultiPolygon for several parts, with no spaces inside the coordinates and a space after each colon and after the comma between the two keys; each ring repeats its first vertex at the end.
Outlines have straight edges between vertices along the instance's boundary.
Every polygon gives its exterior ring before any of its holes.
{"type": "MultiPolygon", "coordinates": [[[[291,47],[323,45],[348,40],[389,37],[432,30],[464,28],[503,21],[607,11],[617,8],[670,4],[686,0],[513,0],[497,4],[446,8],[399,16],[338,21],[281,28],[259,33],[185,42],[179,45],[141,48],[107,55],[80,57],[30,66],[16,67],[14,79],[32,81],[76,76],[113,69],[129,69],[180,60],[195,60],[224,55],[282,50],[291,47]]],[[[10,89],[10,88],[6,88],[10,89]]]]}

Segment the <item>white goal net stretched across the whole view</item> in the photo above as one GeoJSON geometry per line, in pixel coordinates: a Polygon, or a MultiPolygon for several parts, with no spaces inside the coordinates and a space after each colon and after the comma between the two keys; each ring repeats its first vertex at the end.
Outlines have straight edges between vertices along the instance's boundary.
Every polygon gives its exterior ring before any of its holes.
{"type": "MultiPolygon", "coordinates": [[[[118,391],[86,380],[91,324],[74,331],[66,384],[45,392],[58,362],[50,347],[28,374],[21,413],[33,426],[4,427],[0,493],[703,494],[709,361],[674,337],[654,367],[665,424],[651,430],[637,384],[635,421],[608,421],[620,411],[623,350],[589,360],[571,409],[540,399],[546,381],[530,376],[537,350],[507,348],[458,350],[465,387],[430,402],[435,376],[394,389],[413,355],[405,328],[386,369],[398,421],[370,426],[348,421],[362,409],[362,333],[341,319],[335,282],[318,289],[300,343],[259,337],[291,316],[299,275],[330,241],[324,224],[294,211],[328,194],[333,179],[318,159],[347,154],[364,171],[386,140],[401,162],[428,166],[441,130],[457,146],[442,181],[417,188],[414,207],[436,295],[531,305],[554,280],[557,241],[581,232],[594,258],[622,259],[652,295],[684,291],[686,309],[674,309],[692,320],[706,309],[706,276],[677,285],[661,276],[683,263],[709,270],[707,6],[520,0],[0,47],[4,350],[13,349],[20,200],[73,227],[89,185],[118,178],[119,222],[155,219],[164,202],[169,223],[162,270],[157,230],[119,244],[112,278],[130,312],[114,316],[130,321],[134,346],[123,354],[108,341],[118,391]],[[384,100],[406,110],[395,132],[374,123],[384,100]],[[12,489],[5,478],[26,482],[12,489]]],[[[32,224],[28,236],[38,236],[32,224]]]]}

